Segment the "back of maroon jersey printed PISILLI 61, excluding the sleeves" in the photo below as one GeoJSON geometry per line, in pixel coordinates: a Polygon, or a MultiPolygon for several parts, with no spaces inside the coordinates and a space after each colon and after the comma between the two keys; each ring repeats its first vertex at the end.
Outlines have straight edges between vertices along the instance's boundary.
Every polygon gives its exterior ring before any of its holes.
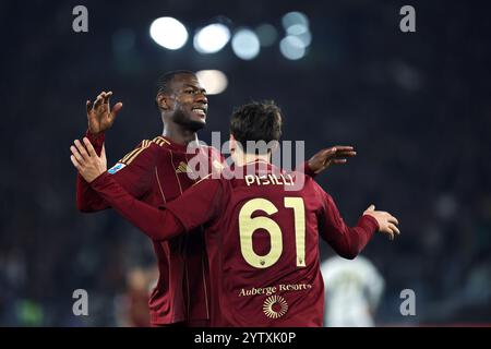
{"type": "Polygon", "coordinates": [[[322,326],[323,197],[309,177],[262,165],[226,181],[224,212],[206,230],[213,325],[322,326]]]}

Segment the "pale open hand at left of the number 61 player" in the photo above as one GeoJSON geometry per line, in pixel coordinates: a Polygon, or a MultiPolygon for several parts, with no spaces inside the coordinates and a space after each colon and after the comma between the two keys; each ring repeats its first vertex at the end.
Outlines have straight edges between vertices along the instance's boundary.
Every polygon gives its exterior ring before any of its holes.
{"type": "Polygon", "coordinates": [[[73,144],[74,145],[70,147],[70,151],[72,152],[70,159],[87,183],[91,183],[101,173],[106,172],[107,159],[106,148],[104,145],[99,157],[87,137],[84,137],[84,144],[82,144],[79,140],[75,140],[73,144]]]}

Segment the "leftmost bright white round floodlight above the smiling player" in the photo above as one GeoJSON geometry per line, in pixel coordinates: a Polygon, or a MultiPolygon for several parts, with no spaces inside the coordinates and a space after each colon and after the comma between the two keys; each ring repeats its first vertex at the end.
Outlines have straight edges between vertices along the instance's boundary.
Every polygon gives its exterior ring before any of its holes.
{"type": "Polygon", "coordinates": [[[172,17],[159,17],[152,22],[149,34],[155,43],[169,50],[180,49],[188,41],[184,25],[172,17]]]}

